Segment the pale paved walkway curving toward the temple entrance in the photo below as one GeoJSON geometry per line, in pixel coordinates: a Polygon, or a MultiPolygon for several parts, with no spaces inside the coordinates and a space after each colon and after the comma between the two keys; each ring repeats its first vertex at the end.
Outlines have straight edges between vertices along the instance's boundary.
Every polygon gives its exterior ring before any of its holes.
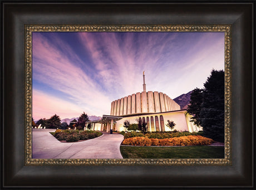
{"type": "Polygon", "coordinates": [[[122,158],[120,144],[124,136],[104,134],[81,142],[60,142],[52,129],[32,130],[32,158],[122,158]]]}

